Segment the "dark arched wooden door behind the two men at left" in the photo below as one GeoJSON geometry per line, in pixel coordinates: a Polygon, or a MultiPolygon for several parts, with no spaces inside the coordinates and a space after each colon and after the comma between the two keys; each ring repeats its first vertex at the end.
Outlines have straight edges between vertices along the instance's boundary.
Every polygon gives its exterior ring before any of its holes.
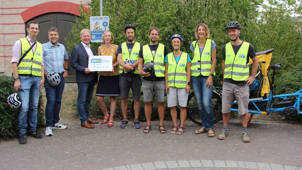
{"type": "MultiPolygon", "coordinates": [[[[76,17],[68,13],[51,13],[46,15],[40,15],[33,18],[30,21],[37,21],[40,24],[40,32],[37,36],[37,41],[41,44],[47,43],[48,39],[48,29],[51,27],[56,27],[59,30],[59,40],[60,44],[63,44],[66,51],[69,51],[65,41],[65,37],[69,35],[69,31],[72,29],[72,25],[76,23],[76,17]]],[[[26,23],[27,24],[27,23],[26,23]]],[[[28,35],[26,31],[26,35],[28,35]]],[[[76,70],[70,66],[71,57],[68,60],[68,77],[65,79],[65,83],[76,83],[76,70]]]]}

